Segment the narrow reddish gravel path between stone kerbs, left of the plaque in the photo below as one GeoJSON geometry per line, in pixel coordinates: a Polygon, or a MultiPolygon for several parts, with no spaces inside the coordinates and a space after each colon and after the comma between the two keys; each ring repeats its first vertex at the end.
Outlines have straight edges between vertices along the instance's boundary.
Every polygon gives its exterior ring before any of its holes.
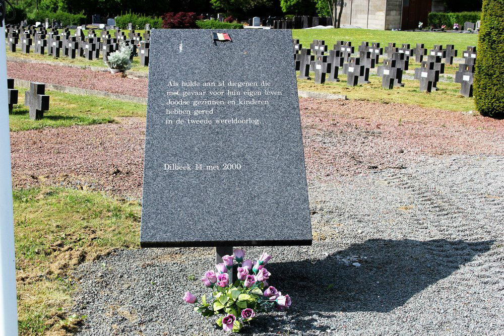
{"type": "Polygon", "coordinates": [[[147,97],[147,79],[122,78],[121,74],[96,72],[70,68],[69,66],[7,62],[7,76],[25,81],[147,97]]]}

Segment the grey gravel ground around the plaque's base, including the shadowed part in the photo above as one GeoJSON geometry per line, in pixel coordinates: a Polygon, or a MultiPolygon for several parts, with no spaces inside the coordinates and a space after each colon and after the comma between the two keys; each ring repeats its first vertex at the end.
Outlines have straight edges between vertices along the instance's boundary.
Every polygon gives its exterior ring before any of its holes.
{"type": "MultiPolygon", "coordinates": [[[[313,245],[266,248],[270,283],[292,308],[245,334],[501,335],[502,167],[498,157],[423,158],[345,183],[312,181],[313,245]]],[[[211,248],[143,249],[81,265],[78,335],[224,334],[181,300],[203,293],[198,279],[213,259],[211,248]]]]}

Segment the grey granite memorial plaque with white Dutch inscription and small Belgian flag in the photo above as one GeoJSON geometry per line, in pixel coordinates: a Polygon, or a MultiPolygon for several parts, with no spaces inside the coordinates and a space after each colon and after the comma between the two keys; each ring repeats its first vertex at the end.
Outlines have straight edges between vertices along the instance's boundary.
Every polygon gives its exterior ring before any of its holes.
{"type": "Polygon", "coordinates": [[[151,32],[142,247],[311,244],[292,54],[290,30],[151,32]]]}

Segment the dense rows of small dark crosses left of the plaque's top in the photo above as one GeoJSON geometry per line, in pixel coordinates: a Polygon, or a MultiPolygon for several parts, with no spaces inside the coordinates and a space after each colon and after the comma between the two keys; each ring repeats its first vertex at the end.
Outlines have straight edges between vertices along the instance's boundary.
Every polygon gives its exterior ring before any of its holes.
{"type": "MultiPolygon", "coordinates": [[[[129,25],[131,27],[131,24],[129,25]]],[[[149,27],[146,27],[149,28],[149,27]]],[[[21,51],[30,53],[31,47],[37,54],[47,54],[54,57],[66,56],[69,58],[84,57],[88,60],[106,60],[110,53],[118,50],[119,43],[123,41],[133,46],[133,56],[140,56],[140,64],[149,65],[150,30],[145,30],[144,36],[140,32],[129,29],[128,35],[116,28],[115,30],[89,30],[87,35],[79,27],[74,34],[68,28],[58,30],[46,29],[44,26],[20,27],[7,25],[6,38],[9,49],[16,52],[20,43],[21,51]],[[23,29],[22,29],[23,28],[23,29]],[[111,33],[114,34],[112,37],[111,33]]]]}

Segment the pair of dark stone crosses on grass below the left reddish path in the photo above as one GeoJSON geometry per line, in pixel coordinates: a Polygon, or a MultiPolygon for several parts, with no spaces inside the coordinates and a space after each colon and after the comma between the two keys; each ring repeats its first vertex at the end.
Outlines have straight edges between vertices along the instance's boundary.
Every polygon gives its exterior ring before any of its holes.
{"type": "MultiPolygon", "coordinates": [[[[9,113],[14,104],[18,103],[18,90],[14,89],[14,79],[7,79],[9,113]]],[[[44,111],[49,110],[49,96],[45,94],[45,84],[30,83],[30,90],[25,92],[25,105],[30,107],[30,119],[38,120],[44,117],[44,111]]]]}

